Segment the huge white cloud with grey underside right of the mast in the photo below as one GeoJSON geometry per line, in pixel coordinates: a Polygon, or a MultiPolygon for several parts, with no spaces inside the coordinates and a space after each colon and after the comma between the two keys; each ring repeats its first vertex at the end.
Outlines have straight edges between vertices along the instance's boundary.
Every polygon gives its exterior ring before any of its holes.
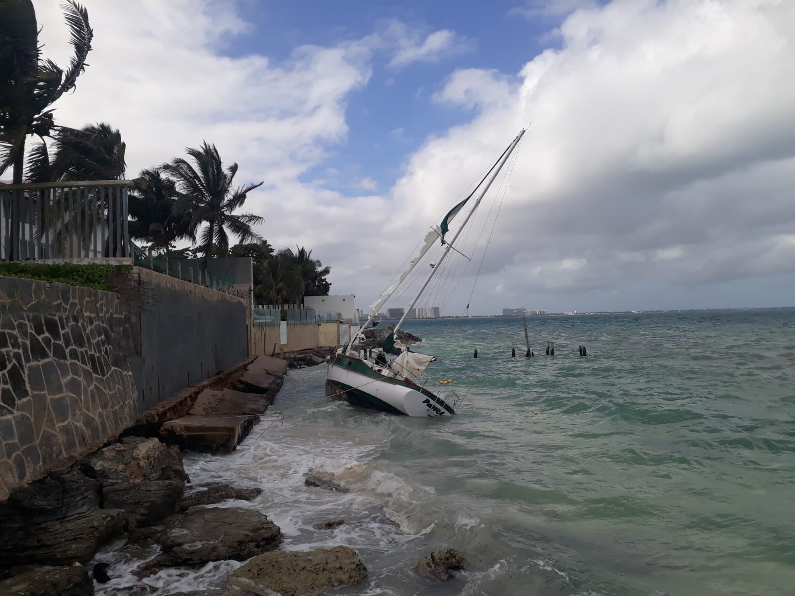
{"type": "Polygon", "coordinates": [[[782,235],[795,226],[793,30],[789,2],[576,10],[560,25],[562,47],[518,78],[448,78],[436,102],[478,111],[409,159],[394,196],[425,219],[442,213],[533,122],[487,287],[533,296],[795,273],[782,235]]]}

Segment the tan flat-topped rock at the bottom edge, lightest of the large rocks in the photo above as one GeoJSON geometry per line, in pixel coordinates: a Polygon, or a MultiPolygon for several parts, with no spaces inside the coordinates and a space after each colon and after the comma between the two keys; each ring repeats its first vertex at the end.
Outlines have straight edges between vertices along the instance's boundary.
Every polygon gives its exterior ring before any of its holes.
{"type": "Polygon", "coordinates": [[[273,551],[258,555],[232,571],[227,582],[255,594],[303,596],[325,587],[350,586],[367,576],[367,568],[349,547],[307,552],[273,551]]]}

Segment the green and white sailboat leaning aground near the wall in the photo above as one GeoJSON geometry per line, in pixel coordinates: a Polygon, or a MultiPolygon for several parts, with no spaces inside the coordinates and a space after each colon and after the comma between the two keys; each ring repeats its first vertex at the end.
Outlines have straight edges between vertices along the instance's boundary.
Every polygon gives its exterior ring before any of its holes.
{"type": "MultiPolygon", "coordinates": [[[[432,226],[428,234],[425,235],[419,253],[409,262],[408,269],[401,273],[397,284],[387,288],[370,307],[370,314],[362,326],[362,330],[373,322],[379,309],[405,281],[425,253],[437,240],[441,242],[443,250],[440,257],[435,263],[430,264],[431,270],[428,277],[409,304],[409,308],[405,309],[405,314],[397,322],[394,330],[386,338],[382,351],[378,352],[375,358],[368,358],[367,350],[355,349],[357,342],[363,343],[364,341],[361,331],[351,334],[347,343],[337,347],[335,354],[328,362],[326,373],[326,395],[328,397],[346,400],[363,408],[404,416],[435,418],[436,416],[452,416],[456,413],[455,408],[460,403],[461,397],[454,390],[447,388],[447,381],[440,381],[445,384],[444,391],[432,391],[425,386],[429,385],[428,379],[425,378],[425,371],[436,358],[430,354],[413,352],[409,346],[419,343],[421,339],[406,331],[401,331],[401,326],[414,305],[417,304],[417,300],[420,300],[423,292],[428,288],[433,277],[440,271],[440,265],[445,257],[452,250],[459,252],[456,250],[456,240],[467,227],[472,215],[475,215],[480,202],[498,176],[502,166],[508,161],[510,154],[522,140],[523,134],[525,134],[525,129],[522,129],[518,136],[511,141],[508,148],[502,152],[502,155],[498,157],[498,160],[494,162],[470,195],[452,207],[444,215],[440,225],[432,226]],[[467,211],[461,226],[453,234],[452,239],[445,238],[449,231],[449,224],[460,211],[463,211],[473,197],[475,200],[472,201],[471,208],[467,211]]],[[[433,385],[435,386],[436,382],[433,385]]]]}

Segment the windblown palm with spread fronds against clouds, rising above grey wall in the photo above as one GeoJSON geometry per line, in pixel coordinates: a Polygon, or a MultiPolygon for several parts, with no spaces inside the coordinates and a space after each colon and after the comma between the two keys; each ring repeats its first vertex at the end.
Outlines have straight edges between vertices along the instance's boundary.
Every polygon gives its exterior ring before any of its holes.
{"type": "Polygon", "coordinates": [[[246,202],[248,193],[262,186],[262,182],[233,188],[232,180],[238,171],[238,164],[231,164],[224,169],[218,149],[215,149],[215,145],[208,145],[207,141],[204,141],[201,149],[188,147],[185,152],[192,157],[193,164],[175,157],[171,163],[163,164],[161,169],[173,178],[177,190],[183,195],[176,210],[190,214],[192,234],[196,234],[199,226],[207,224],[199,240],[200,246],[204,247],[202,267],[206,269],[213,246],[219,255],[229,252],[227,230],[238,238],[238,242],[262,240],[251,229],[254,224],[262,223],[261,216],[250,213],[235,215],[235,211],[246,202]]]}

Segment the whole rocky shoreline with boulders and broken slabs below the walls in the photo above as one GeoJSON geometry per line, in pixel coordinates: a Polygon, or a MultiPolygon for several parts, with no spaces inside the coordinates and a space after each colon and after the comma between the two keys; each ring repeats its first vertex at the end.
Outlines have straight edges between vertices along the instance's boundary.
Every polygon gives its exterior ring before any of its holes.
{"type": "MultiPolygon", "coordinates": [[[[317,361],[323,362],[322,355],[254,359],[186,389],[147,412],[114,442],[14,490],[0,503],[0,596],[95,594],[95,587],[117,577],[107,563],[91,563],[114,540],[126,540],[122,550],[149,548],[156,553],[126,571],[129,587],[118,594],[129,596],[157,594],[157,588],[140,580],[161,570],[226,560],[245,561],[228,575],[226,588],[181,596],[297,596],[361,582],[367,569],[353,549],[339,545],[281,551],[281,529],[265,513],[213,506],[250,500],[261,488],[223,482],[194,486],[182,463],[185,449],[235,450],[267,414],[289,363],[317,361]]],[[[320,490],[346,490],[315,475],[305,482],[320,490]]],[[[316,527],[339,524],[344,521],[316,527]]],[[[452,569],[463,568],[460,553],[436,555],[421,562],[417,573],[447,579],[452,569]],[[444,568],[446,562],[453,567],[444,568]]]]}

